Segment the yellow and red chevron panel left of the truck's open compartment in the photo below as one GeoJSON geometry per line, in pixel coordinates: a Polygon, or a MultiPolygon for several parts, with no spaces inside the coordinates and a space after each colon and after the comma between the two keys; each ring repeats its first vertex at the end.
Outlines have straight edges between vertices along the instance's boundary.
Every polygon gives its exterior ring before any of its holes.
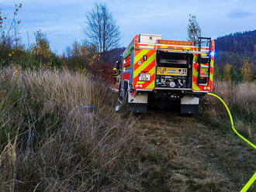
{"type": "Polygon", "coordinates": [[[134,65],[133,65],[133,88],[136,89],[137,84],[140,88],[154,89],[155,80],[155,65],[156,65],[156,49],[154,50],[135,50],[134,65]],[[147,57],[147,60],[144,60],[147,57]],[[139,64],[140,63],[140,64],[139,64]],[[150,74],[150,81],[139,81],[139,74],[150,74]]]}

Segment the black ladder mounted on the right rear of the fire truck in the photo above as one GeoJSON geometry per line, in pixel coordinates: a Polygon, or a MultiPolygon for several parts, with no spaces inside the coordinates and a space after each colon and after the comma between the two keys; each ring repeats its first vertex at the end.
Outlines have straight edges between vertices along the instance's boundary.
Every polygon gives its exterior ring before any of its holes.
{"type": "Polygon", "coordinates": [[[199,53],[198,57],[198,85],[208,86],[209,85],[209,76],[211,68],[211,55],[212,55],[212,40],[208,37],[199,37],[199,46],[198,51],[202,51],[202,43],[206,43],[206,47],[209,47],[208,54],[199,53]]]}

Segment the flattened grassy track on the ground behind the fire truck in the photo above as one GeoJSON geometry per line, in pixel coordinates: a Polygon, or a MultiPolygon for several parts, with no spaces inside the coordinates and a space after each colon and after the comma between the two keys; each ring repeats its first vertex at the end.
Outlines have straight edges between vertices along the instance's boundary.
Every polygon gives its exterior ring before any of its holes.
{"type": "Polygon", "coordinates": [[[231,130],[173,111],[151,110],[139,119],[146,143],[140,172],[148,191],[237,191],[256,170],[256,153],[231,130]]]}

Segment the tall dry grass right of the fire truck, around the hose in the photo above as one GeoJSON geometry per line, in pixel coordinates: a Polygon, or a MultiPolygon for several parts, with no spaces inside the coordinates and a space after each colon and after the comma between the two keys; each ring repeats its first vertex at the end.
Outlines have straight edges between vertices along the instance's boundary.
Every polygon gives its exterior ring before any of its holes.
{"type": "MultiPolygon", "coordinates": [[[[215,81],[213,93],[218,94],[227,103],[234,118],[236,129],[244,136],[256,142],[256,83],[235,84],[228,81],[215,81]]],[[[230,120],[226,109],[216,98],[206,97],[209,106],[206,115],[222,128],[230,129],[230,120]]]]}

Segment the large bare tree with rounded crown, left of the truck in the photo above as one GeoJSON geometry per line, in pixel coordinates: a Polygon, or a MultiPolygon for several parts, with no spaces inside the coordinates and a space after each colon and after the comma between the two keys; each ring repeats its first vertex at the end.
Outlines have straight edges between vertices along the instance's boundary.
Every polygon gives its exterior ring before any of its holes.
{"type": "Polygon", "coordinates": [[[106,4],[96,3],[86,15],[83,32],[88,43],[93,44],[105,60],[106,51],[119,46],[120,31],[106,4]]]}

